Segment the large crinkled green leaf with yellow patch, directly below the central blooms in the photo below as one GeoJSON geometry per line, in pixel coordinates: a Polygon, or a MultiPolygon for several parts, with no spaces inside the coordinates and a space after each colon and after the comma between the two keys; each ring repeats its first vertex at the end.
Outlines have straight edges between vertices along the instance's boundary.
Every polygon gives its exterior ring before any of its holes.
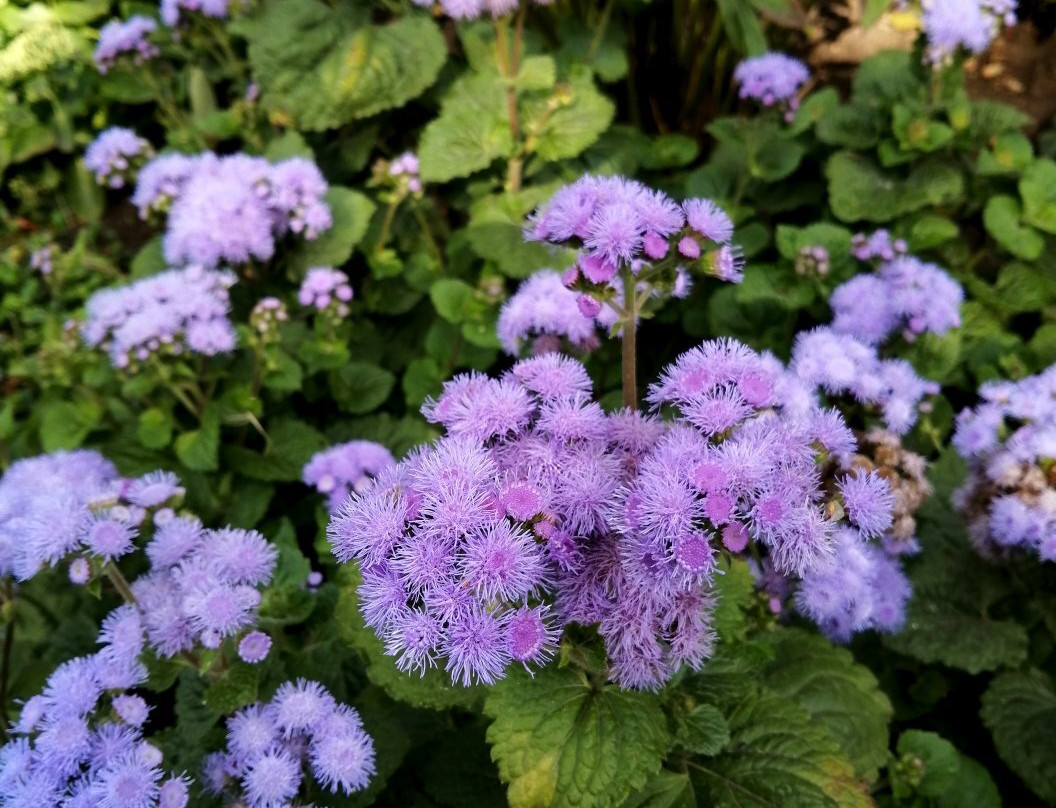
{"type": "Polygon", "coordinates": [[[511,669],[485,701],[511,808],[623,802],[660,769],[671,738],[656,696],[591,684],[571,669],[511,669]]]}

